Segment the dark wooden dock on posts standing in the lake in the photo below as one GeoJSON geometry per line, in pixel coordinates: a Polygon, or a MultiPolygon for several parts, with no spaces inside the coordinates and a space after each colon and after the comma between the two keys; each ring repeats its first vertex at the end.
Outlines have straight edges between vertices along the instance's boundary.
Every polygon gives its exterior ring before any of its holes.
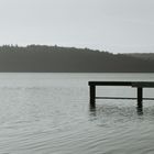
{"type": "Polygon", "coordinates": [[[143,98],[143,88],[154,88],[154,81],[89,81],[90,91],[90,106],[96,107],[96,99],[136,99],[138,108],[142,108],[143,99],[154,100],[154,98],[143,98]],[[123,97],[96,97],[97,86],[129,86],[136,88],[136,98],[123,98],[123,97]]]}

